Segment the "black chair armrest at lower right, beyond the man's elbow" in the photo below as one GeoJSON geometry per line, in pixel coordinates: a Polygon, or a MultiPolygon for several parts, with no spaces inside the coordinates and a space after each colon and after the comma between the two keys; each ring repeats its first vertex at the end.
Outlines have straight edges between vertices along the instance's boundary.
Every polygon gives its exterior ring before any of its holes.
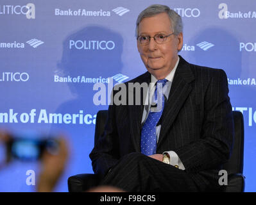
{"type": "Polygon", "coordinates": [[[228,175],[228,185],[225,186],[223,192],[244,192],[244,179],[243,174],[228,175]]]}

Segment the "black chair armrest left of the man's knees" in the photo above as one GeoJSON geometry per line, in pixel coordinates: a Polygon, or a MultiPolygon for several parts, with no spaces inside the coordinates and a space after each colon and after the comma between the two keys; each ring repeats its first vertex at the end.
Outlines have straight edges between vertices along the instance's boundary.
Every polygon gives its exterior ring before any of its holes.
{"type": "Polygon", "coordinates": [[[77,174],[69,177],[67,185],[69,192],[85,192],[99,184],[100,177],[96,174],[77,174]]]}

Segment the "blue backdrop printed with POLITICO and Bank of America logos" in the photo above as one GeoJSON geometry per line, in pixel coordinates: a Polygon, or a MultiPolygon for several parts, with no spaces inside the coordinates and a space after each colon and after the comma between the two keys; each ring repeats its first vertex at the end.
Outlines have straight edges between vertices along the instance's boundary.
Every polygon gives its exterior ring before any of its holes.
{"type": "MultiPolygon", "coordinates": [[[[166,4],[181,15],[184,41],[180,55],[185,60],[225,70],[232,107],[244,115],[245,190],[255,192],[253,0],[1,0],[0,128],[26,135],[58,131],[67,135],[69,160],[56,192],[67,191],[67,177],[92,173],[89,153],[96,113],[108,108],[94,104],[93,86],[98,82],[107,86],[109,77],[114,83],[124,82],[146,71],[137,51],[135,20],[155,3],[166,4]],[[63,119],[51,120],[50,114],[63,119]],[[68,116],[65,120],[64,115],[68,116]]],[[[3,160],[3,145],[0,148],[3,160]]],[[[40,161],[12,161],[0,170],[0,191],[35,192],[35,186],[26,184],[26,171],[37,174],[39,168],[40,161]]]]}

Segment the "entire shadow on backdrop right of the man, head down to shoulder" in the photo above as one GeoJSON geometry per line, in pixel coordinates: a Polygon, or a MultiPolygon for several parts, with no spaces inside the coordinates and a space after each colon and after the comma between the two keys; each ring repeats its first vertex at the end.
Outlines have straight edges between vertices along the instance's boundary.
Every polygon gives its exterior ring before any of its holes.
{"type": "MultiPolygon", "coordinates": [[[[191,52],[193,63],[216,69],[223,69],[229,80],[246,76],[248,60],[239,51],[239,40],[223,28],[212,27],[200,31],[195,37],[191,38],[189,45],[196,46],[196,52],[191,52]],[[214,46],[206,51],[200,49],[196,44],[209,42],[214,46]],[[243,62],[242,62],[243,61],[243,62]],[[243,65],[243,67],[242,67],[243,65]]],[[[253,92],[252,86],[229,85],[230,99],[233,104],[248,104],[246,96],[253,92]]]]}

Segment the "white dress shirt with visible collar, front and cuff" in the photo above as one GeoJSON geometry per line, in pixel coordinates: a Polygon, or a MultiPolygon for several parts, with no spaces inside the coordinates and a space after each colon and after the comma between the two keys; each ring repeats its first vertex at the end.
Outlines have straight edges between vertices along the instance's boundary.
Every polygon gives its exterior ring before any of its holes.
{"type": "MultiPolygon", "coordinates": [[[[180,61],[180,58],[178,57],[175,67],[173,68],[173,70],[171,70],[171,72],[165,78],[165,79],[167,79],[167,82],[166,82],[166,85],[162,89],[163,89],[163,93],[164,93],[164,96],[166,97],[166,99],[168,99],[168,97],[169,97],[169,92],[171,90],[171,84],[173,83],[173,77],[175,76],[175,71],[176,71],[179,61],[180,61]]],[[[149,99],[153,99],[153,97],[155,97],[154,94],[155,94],[155,84],[156,83],[157,83],[157,78],[155,78],[155,76],[151,75],[151,83],[149,83],[149,90],[148,90],[148,94],[146,95],[146,102],[148,102],[148,105],[144,106],[142,122],[141,122],[142,126],[143,126],[144,122],[146,122],[146,119],[148,118],[149,110],[151,108],[152,100],[149,100],[149,99]]],[[[160,129],[161,129],[161,125],[158,125],[156,127],[157,142],[158,142],[159,135],[160,135],[160,129]]],[[[165,152],[167,152],[170,156],[170,164],[171,165],[173,165],[173,166],[178,165],[178,168],[180,168],[181,170],[185,170],[185,167],[183,166],[183,163],[182,163],[182,161],[180,161],[180,158],[178,157],[176,152],[174,152],[174,151],[165,151],[165,152]]]]}

